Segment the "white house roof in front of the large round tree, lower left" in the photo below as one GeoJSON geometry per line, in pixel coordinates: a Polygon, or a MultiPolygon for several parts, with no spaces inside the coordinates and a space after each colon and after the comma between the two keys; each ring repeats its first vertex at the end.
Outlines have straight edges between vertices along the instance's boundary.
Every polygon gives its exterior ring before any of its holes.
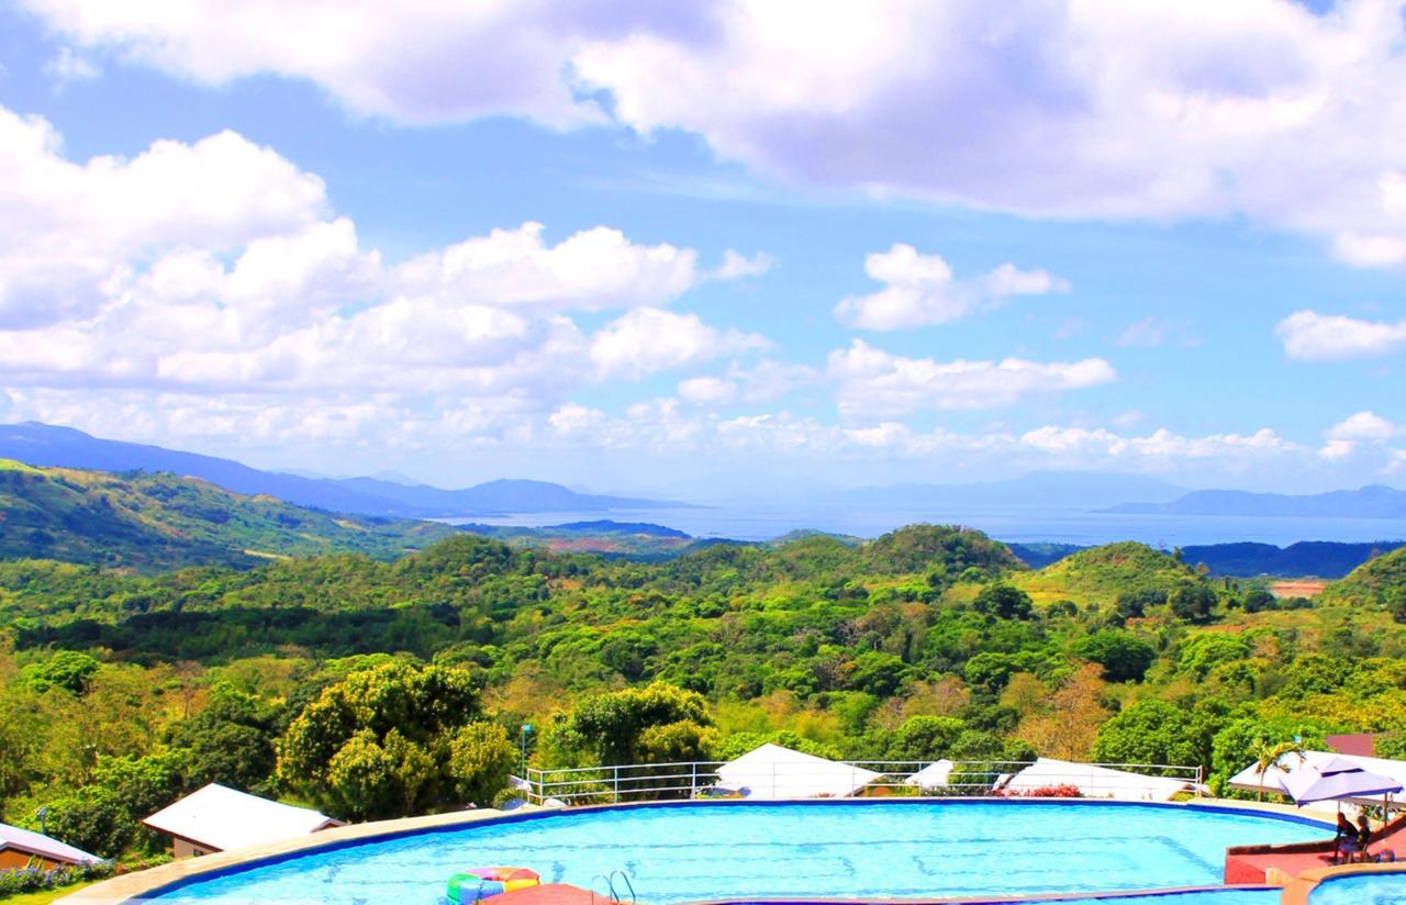
{"type": "Polygon", "coordinates": [[[142,822],[219,852],[304,836],[337,825],[337,821],[311,808],[269,801],[217,783],[186,795],[142,822]]]}

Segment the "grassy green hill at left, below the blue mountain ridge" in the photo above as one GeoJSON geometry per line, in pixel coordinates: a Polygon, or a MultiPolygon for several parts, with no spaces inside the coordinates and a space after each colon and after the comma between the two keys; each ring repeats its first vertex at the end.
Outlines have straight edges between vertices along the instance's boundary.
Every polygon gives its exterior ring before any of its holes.
{"type": "Polygon", "coordinates": [[[0,558],[142,571],[328,552],[392,559],[454,534],[436,523],[336,517],[169,474],[11,460],[0,460],[0,558]]]}

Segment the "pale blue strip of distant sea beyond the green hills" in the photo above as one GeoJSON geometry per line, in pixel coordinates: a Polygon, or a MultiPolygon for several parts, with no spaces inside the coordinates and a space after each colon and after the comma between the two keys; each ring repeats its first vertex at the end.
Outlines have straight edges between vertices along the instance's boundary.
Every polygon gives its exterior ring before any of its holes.
{"type": "Polygon", "coordinates": [[[943,509],[862,509],[848,504],[744,504],[717,503],[700,509],[616,509],[610,512],[560,512],[530,516],[453,519],[461,524],[543,527],[569,521],[648,521],[693,537],[725,537],[768,541],[797,528],[834,534],[879,537],[918,521],[960,524],[1015,544],[1108,544],[1142,541],[1153,547],[1189,547],[1257,541],[1286,547],[1296,541],[1369,542],[1406,538],[1399,519],[1278,519],[1249,516],[1135,516],[1077,509],[1028,506],[950,506],[943,509]]]}

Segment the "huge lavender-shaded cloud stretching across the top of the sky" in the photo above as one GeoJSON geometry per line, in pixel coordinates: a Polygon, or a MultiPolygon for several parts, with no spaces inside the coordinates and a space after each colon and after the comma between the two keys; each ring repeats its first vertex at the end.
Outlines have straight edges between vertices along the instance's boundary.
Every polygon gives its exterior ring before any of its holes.
{"type": "Polygon", "coordinates": [[[797,184],[1039,216],[1239,214],[1353,264],[1406,260],[1391,0],[21,4],[79,52],[200,83],[309,79],[357,114],[609,117],[797,184]]]}

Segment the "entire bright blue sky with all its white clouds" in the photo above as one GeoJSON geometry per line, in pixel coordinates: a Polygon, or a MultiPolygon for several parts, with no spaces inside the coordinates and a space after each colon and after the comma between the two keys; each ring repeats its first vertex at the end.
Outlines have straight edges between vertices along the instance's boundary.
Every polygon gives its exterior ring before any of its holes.
{"type": "Polygon", "coordinates": [[[0,422],[1406,486],[1402,84],[1385,0],[0,0],[0,422]]]}

